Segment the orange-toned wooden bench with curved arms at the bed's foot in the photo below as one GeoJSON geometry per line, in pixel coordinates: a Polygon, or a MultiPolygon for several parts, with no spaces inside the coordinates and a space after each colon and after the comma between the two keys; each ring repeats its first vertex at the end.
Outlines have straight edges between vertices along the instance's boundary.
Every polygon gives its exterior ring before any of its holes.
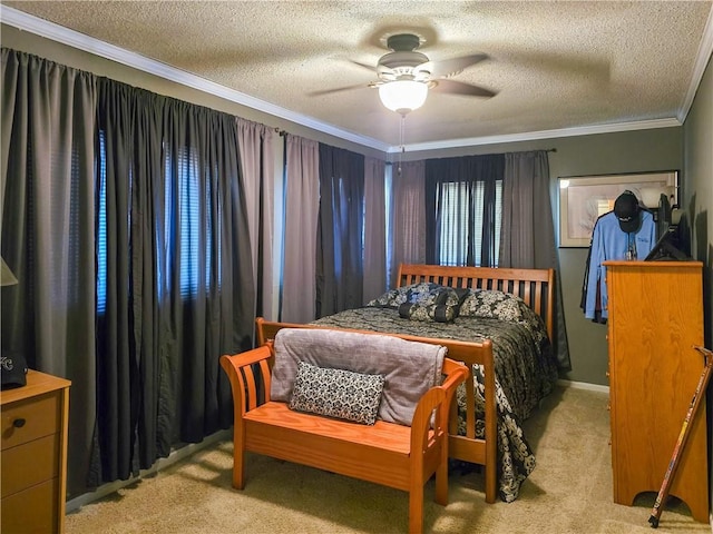
{"type": "Polygon", "coordinates": [[[244,487],[245,453],[263,454],[409,492],[409,532],[422,532],[423,486],[433,474],[434,500],[448,504],[449,407],[467,367],[443,358],[443,380],[420,398],[410,427],[381,419],[369,426],[271,400],[274,358],[273,342],[221,357],[235,411],[233,486],[244,487]]]}

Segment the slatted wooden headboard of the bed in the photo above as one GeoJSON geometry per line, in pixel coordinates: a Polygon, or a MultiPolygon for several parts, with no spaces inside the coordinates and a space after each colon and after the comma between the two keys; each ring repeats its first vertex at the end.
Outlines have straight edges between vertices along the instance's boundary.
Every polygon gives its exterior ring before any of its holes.
{"type": "Polygon", "coordinates": [[[432,281],[441,286],[496,289],[520,297],[545,322],[553,339],[555,269],[505,269],[401,264],[397,286],[432,281]]]}

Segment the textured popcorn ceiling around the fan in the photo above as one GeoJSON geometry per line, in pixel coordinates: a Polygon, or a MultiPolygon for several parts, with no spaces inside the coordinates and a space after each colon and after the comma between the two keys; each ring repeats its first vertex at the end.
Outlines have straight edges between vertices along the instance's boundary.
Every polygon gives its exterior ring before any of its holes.
{"type": "Polygon", "coordinates": [[[407,145],[422,147],[681,121],[713,47],[711,1],[2,4],[388,147],[399,145],[399,116],[368,87],[375,73],[355,62],[375,66],[389,34],[418,33],[431,60],[489,57],[452,79],[495,97],[431,91],[407,117],[407,145]]]}

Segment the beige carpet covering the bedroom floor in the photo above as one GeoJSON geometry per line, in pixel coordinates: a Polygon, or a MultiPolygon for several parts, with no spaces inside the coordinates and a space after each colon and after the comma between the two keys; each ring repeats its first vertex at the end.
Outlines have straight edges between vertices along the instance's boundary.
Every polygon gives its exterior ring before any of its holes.
{"type": "MultiPolygon", "coordinates": [[[[484,501],[482,475],[452,474],[450,504],[427,485],[424,530],[433,533],[705,533],[670,503],[657,531],[655,493],[634,506],[612,501],[607,395],[557,389],[526,422],[537,467],[510,504],[484,501]]],[[[251,456],[243,492],[231,487],[232,443],[218,443],[67,516],[69,534],[403,533],[406,493],[309,467],[251,456]]]]}

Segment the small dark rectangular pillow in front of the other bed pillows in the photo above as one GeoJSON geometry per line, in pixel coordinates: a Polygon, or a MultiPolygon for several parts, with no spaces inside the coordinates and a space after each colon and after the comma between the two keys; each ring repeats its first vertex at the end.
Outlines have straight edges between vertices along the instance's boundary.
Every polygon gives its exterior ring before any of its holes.
{"type": "Polygon", "coordinates": [[[461,300],[467,295],[467,289],[437,284],[413,288],[407,294],[407,301],[399,306],[399,315],[411,320],[448,323],[458,317],[461,300]]]}

